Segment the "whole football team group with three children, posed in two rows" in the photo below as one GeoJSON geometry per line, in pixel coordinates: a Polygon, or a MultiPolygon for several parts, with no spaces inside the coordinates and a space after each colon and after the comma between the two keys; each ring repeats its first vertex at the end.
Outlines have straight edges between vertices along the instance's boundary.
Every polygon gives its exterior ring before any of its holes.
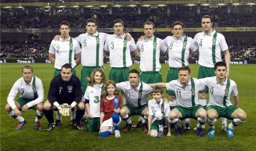
{"type": "Polygon", "coordinates": [[[156,38],[154,24],[146,21],[145,35],[137,43],[129,33],[123,32],[124,23],[120,19],[113,21],[114,34],[97,32],[94,19],[88,19],[85,24],[87,32],[76,38],[69,36],[67,21],[59,24],[61,35],[52,40],[48,53],[55,72],[46,102],[41,79],[33,76],[30,65],[23,67],[23,77],[14,83],[5,107],[10,117],[19,121],[15,130],[21,130],[26,124],[21,111],[31,108],[36,110],[35,130],[41,130],[43,115],[48,120],[46,131],[61,125],[62,115],[70,115],[70,124],[78,130],[87,123],[88,131],[95,132],[100,123],[101,137],[110,133],[121,137],[121,119],[126,122],[124,131],[137,126],[148,131],[149,136],[159,138],[164,136],[165,128],[167,136],[171,136],[171,127],[175,126],[175,135],[180,136],[183,119],[186,119],[186,130],[190,129],[190,118],[198,120],[194,130],[199,137],[204,136],[205,122],[209,124],[208,136],[215,137],[214,124],[221,117],[221,129],[227,131],[227,137],[233,137],[233,128],[246,121],[246,113],[238,108],[237,85],[228,78],[228,46],[225,37],[213,30],[211,16],[203,16],[203,32],[197,33],[194,39],[183,33],[183,24],[179,21],[172,24],[172,36],[164,40],[156,38]],[[109,80],[103,69],[107,51],[111,67],[109,80]],[[130,69],[131,51],[140,57],[141,72],[130,69]],[[160,51],[168,54],[167,83],[162,83],[160,51]],[[198,79],[190,77],[188,56],[191,51],[199,53],[198,79]],[[222,51],[225,62],[221,59],[222,51]],[[75,67],[80,63],[83,67],[79,80],[75,67]],[[163,88],[168,98],[164,98],[163,88]],[[21,96],[15,99],[18,92],[21,96]],[[148,100],[149,94],[152,100],[148,100]],[[231,94],[234,105],[230,101],[231,94]],[[53,111],[56,111],[56,120],[53,111]],[[130,119],[132,115],[139,115],[136,125],[130,119]],[[227,124],[227,119],[232,122],[227,124]]]}

